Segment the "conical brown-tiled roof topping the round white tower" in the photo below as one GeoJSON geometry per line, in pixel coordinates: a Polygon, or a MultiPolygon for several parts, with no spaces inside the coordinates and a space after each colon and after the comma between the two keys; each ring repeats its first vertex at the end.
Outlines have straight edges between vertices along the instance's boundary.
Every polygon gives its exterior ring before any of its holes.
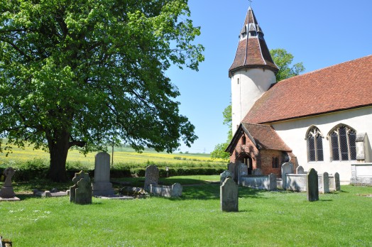
{"type": "Polygon", "coordinates": [[[258,25],[251,6],[248,8],[244,26],[239,34],[239,45],[234,62],[229,69],[229,77],[234,71],[246,67],[262,67],[275,73],[279,70],[271,58],[263,38],[262,28],[258,25]]]}

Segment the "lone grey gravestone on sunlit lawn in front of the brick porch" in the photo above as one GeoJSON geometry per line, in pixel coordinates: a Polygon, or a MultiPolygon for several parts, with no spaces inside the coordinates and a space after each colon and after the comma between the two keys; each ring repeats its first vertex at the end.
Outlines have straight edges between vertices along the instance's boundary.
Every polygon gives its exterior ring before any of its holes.
{"type": "Polygon", "coordinates": [[[219,201],[221,204],[221,211],[224,212],[238,212],[238,186],[231,177],[226,180],[219,187],[219,201]]]}

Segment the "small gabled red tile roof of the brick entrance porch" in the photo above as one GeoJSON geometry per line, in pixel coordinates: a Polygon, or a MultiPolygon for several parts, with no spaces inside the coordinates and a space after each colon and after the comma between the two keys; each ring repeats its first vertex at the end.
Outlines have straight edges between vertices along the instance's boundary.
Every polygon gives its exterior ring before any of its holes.
{"type": "Polygon", "coordinates": [[[263,124],[245,124],[241,123],[238,130],[235,132],[231,143],[226,148],[226,152],[231,152],[241,136],[239,133],[244,131],[247,136],[255,143],[258,149],[281,150],[291,152],[292,150],[284,143],[278,133],[268,125],[263,124]]]}

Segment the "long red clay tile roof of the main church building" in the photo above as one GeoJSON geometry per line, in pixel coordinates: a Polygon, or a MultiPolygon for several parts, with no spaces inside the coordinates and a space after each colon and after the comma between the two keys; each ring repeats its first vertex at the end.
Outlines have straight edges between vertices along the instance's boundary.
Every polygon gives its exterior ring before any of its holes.
{"type": "Polygon", "coordinates": [[[278,82],[244,123],[271,123],[372,106],[372,55],[278,82]]]}

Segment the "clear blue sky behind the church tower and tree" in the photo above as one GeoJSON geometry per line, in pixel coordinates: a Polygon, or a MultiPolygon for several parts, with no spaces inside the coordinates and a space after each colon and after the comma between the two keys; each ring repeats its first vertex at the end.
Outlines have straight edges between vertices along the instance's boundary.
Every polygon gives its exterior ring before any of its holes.
{"type": "MultiPolygon", "coordinates": [[[[166,74],[180,90],[180,114],[199,136],[191,148],[182,145],[180,150],[209,153],[226,141],[222,111],[230,104],[228,70],[249,1],[189,0],[189,6],[195,26],[201,26],[196,41],[205,47],[205,60],[199,72],[172,67],[166,74]]],[[[305,72],[372,54],[370,0],[253,0],[251,7],[268,48],[292,53],[305,72]]]]}

